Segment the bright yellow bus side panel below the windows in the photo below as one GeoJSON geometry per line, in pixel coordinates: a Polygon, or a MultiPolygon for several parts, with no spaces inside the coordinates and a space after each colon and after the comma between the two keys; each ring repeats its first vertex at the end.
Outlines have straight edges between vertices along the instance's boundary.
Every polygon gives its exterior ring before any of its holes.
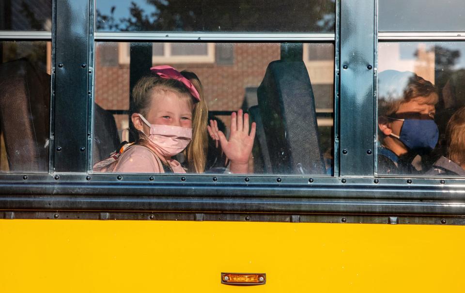
{"type": "Polygon", "coordinates": [[[0,220],[0,291],[463,292],[465,227],[0,220]],[[221,272],[265,273],[231,286],[221,272]]]}

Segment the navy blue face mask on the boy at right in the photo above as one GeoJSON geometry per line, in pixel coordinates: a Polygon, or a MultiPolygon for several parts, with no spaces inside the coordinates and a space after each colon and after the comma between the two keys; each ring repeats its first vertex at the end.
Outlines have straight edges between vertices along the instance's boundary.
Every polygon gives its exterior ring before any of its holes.
{"type": "Polygon", "coordinates": [[[400,136],[391,133],[417,154],[426,154],[434,149],[439,139],[439,129],[433,119],[397,119],[403,121],[400,136]]]}

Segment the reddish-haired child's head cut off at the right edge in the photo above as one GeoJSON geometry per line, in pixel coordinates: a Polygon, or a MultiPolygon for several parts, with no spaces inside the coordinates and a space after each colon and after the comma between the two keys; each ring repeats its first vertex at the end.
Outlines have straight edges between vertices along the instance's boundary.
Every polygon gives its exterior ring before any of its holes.
{"type": "Polygon", "coordinates": [[[447,123],[448,158],[465,169],[465,107],[458,109],[447,123]]]}

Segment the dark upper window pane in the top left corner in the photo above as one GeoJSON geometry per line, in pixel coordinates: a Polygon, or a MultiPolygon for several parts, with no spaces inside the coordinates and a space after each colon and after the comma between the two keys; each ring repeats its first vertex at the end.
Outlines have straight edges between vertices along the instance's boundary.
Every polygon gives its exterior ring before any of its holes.
{"type": "Polygon", "coordinates": [[[52,0],[0,0],[0,31],[51,31],[52,0]]]}

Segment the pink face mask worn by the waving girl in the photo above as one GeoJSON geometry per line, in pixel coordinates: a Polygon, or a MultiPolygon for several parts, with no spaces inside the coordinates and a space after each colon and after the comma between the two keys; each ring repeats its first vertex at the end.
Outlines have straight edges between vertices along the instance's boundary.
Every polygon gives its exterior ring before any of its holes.
{"type": "Polygon", "coordinates": [[[192,128],[150,124],[142,115],[139,114],[139,116],[150,127],[150,135],[146,135],[143,130],[142,133],[163,156],[181,153],[192,139],[192,128]]]}

